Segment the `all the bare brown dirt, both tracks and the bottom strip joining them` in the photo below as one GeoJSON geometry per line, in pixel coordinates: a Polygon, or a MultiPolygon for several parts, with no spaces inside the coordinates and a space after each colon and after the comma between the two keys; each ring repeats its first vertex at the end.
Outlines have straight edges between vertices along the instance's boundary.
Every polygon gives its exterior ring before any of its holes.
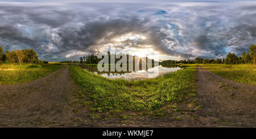
{"type": "Polygon", "coordinates": [[[164,118],[93,119],[88,109],[74,113],[69,106],[78,86],[65,66],[30,83],[0,86],[0,127],[256,127],[256,86],[201,66],[196,72],[195,100],[201,106],[196,111],[164,118]]]}

